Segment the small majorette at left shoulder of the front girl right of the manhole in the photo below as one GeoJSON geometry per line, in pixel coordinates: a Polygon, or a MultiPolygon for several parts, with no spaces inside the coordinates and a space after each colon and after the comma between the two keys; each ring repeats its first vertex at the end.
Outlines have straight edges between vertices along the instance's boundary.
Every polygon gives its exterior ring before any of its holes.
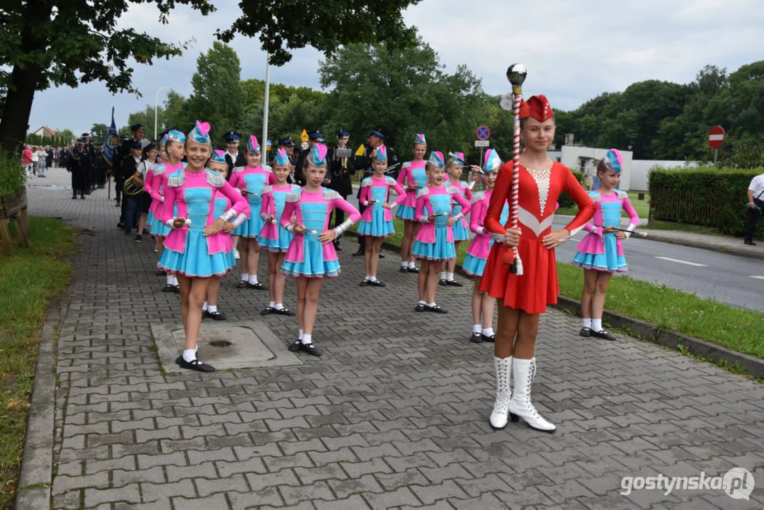
{"type": "Polygon", "coordinates": [[[277,313],[293,316],[295,314],[293,310],[283,306],[286,278],[279,271],[293,237],[292,232],[281,227],[286,196],[290,193],[300,193],[302,190],[299,184],[287,184],[286,179],[291,171],[289,153],[283,148],[278,149],[273,161],[276,184],[265,186],[261,191],[263,196],[261,218],[264,225],[257,241],[260,242],[261,248],[268,250],[268,295],[270,297],[268,306],[261,312],[263,315],[277,313]]]}

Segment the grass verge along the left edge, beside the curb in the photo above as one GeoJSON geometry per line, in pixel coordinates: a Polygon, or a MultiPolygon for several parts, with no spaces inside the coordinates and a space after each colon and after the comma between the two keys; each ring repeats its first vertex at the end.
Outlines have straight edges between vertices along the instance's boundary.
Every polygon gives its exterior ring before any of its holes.
{"type": "Polygon", "coordinates": [[[29,247],[0,255],[0,508],[13,508],[40,328],[48,302],[70,281],[74,232],[58,219],[29,219],[29,247]]]}

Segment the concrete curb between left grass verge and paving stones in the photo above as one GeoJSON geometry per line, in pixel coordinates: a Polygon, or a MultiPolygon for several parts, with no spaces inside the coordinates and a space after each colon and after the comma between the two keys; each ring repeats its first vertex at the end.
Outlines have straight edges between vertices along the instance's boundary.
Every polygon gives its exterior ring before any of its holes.
{"type": "Polygon", "coordinates": [[[40,335],[37,367],[29,406],[21,475],[16,492],[17,510],[49,508],[53,484],[53,420],[56,412],[56,326],[63,299],[53,300],[40,335]],[[26,489],[23,489],[26,487],[26,489]]]}

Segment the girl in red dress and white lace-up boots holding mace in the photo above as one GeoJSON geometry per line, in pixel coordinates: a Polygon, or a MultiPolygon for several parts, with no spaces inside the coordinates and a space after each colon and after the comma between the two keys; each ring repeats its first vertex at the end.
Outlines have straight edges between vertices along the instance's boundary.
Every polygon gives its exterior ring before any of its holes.
{"type": "Polygon", "coordinates": [[[539,316],[547,304],[557,303],[555,247],[583,228],[595,206],[568,167],[546,155],[555,138],[555,116],[545,96],[523,102],[520,119],[520,136],[526,145],[520,155],[520,228],[509,229],[510,223],[503,226],[499,221],[504,203],[511,203],[511,161],[499,171],[484,223],[488,232],[504,236],[504,242],[494,243],[490,250],[480,287],[503,305],[494,346],[497,391],[490,425],[503,429],[509,414],[512,421],[523,418],[533,429],[554,432],[555,426],[539,415],[530,399],[539,316]],[[562,192],[578,204],[578,214],[565,229],[552,231],[555,203],[562,192]],[[503,260],[515,246],[523,261],[522,275],[510,272],[510,264],[503,260]],[[513,372],[514,393],[510,391],[513,372]]]}

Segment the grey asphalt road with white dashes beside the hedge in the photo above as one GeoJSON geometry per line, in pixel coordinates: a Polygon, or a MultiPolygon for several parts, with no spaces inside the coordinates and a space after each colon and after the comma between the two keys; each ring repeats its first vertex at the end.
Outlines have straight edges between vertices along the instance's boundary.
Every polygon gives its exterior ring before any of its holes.
{"type": "MultiPolygon", "coordinates": [[[[348,201],[358,206],[353,195],[348,201]]],[[[555,229],[564,225],[555,223],[555,229]]],[[[584,232],[585,233],[585,232],[584,232]]],[[[555,250],[557,260],[569,262],[584,233],[555,250]]],[[[764,312],[764,260],[711,252],[631,237],[624,245],[627,275],[639,280],[711,298],[733,307],[764,312]]]]}

